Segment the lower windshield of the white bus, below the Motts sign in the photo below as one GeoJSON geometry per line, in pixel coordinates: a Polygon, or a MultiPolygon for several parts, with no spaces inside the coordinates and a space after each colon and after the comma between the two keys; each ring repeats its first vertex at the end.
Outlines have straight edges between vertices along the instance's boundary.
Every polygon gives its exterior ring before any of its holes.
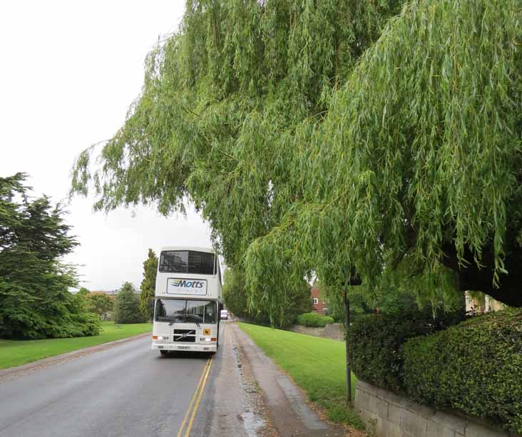
{"type": "Polygon", "coordinates": [[[158,299],[156,322],[217,323],[218,311],[214,301],[189,299],[158,299]]]}

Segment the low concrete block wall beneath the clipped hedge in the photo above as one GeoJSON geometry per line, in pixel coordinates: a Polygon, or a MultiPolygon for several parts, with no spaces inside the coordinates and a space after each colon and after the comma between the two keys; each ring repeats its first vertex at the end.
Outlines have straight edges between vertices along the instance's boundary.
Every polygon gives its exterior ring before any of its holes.
{"type": "Polygon", "coordinates": [[[419,405],[364,381],[357,382],[355,409],[377,437],[522,437],[476,418],[419,405]]]}

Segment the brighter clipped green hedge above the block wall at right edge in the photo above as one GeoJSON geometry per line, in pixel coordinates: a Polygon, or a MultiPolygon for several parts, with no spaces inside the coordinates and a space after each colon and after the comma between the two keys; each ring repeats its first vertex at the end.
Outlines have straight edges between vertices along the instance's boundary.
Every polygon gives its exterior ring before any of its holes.
{"type": "Polygon", "coordinates": [[[522,311],[487,314],[406,341],[407,393],[522,432],[522,311]]]}

